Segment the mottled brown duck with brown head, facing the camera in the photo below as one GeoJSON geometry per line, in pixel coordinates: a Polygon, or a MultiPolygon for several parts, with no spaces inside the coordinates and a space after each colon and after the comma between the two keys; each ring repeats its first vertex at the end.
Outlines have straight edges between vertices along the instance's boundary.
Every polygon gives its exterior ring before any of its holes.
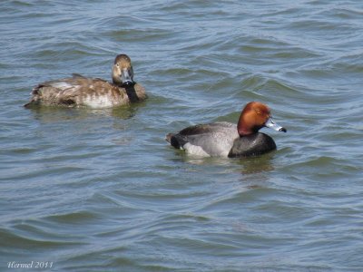
{"type": "Polygon", "coordinates": [[[40,83],[34,87],[32,94],[25,107],[42,104],[109,108],[147,97],[142,85],[133,81],[131,59],[126,54],[119,54],[114,59],[113,83],[73,74],[70,78],[40,83]]]}

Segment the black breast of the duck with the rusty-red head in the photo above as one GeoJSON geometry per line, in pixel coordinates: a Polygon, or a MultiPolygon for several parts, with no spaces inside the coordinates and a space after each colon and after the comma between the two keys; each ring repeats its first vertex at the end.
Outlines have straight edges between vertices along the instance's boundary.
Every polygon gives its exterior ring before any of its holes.
{"type": "Polygon", "coordinates": [[[233,142],[228,157],[245,158],[258,156],[274,150],[276,150],[275,141],[269,135],[259,132],[236,139],[233,142]]]}

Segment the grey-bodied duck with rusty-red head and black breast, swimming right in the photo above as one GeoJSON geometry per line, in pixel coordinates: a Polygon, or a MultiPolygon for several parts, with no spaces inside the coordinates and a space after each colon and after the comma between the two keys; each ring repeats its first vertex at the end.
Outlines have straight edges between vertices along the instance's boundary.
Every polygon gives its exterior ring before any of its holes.
{"type": "Polygon", "coordinates": [[[238,124],[217,121],[198,124],[166,135],[166,141],[187,153],[209,157],[250,157],[276,150],[275,141],[262,127],[275,131],[286,129],[275,123],[267,105],[249,102],[240,113],[238,124]]]}

